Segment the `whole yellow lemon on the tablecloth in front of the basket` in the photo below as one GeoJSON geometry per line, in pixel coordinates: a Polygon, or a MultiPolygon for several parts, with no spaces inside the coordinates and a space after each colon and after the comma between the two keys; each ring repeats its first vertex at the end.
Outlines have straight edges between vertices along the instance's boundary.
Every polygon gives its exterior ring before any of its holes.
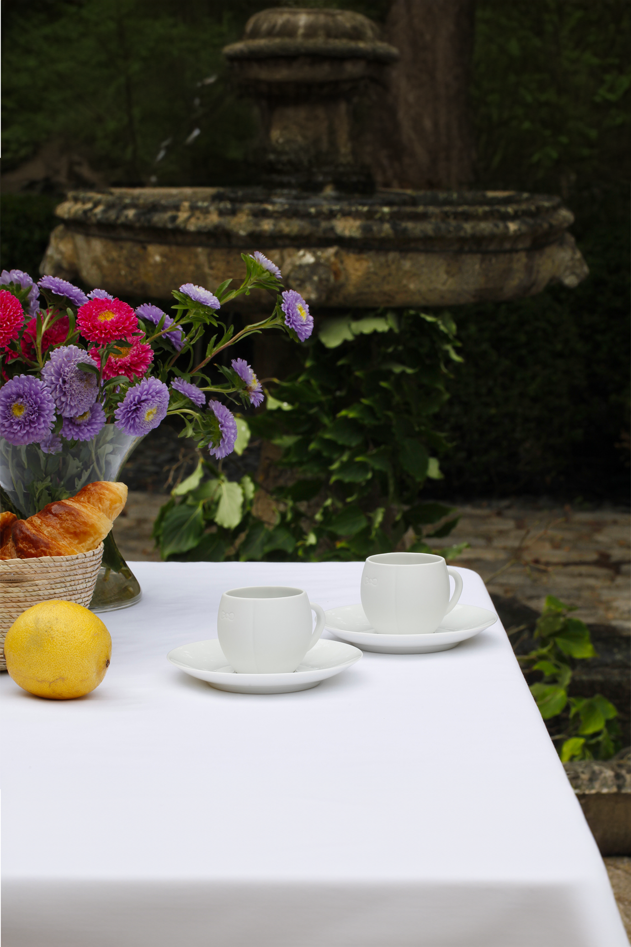
{"type": "Polygon", "coordinates": [[[61,599],[27,608],[5,639],[7,670],[15,683],[58,701],[97,688],[111,656],[112,638],[101,619],[61,599]]]}

